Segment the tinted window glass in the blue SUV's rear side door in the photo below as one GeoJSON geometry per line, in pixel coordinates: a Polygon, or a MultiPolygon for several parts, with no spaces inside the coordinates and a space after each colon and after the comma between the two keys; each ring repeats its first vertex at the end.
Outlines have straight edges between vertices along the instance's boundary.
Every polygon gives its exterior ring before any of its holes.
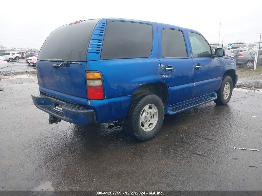
{"type": "Polygon", "coordinates": [[[180,30],[163,29],[161,41],[162,57],[187,58],[184,36],[180,30]]]}

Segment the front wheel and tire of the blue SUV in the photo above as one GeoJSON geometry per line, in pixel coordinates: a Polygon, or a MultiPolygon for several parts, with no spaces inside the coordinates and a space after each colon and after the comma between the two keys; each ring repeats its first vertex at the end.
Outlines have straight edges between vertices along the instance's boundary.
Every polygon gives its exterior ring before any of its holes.
{"type": "Polygon", "coordinates": [[[214,102],[217,105],[226,105],[229,102],[230,98],[231,98],[232,91],[233,91],[232,78],[230,76],[224,76],[223,80],[222,80],[222,83],[221,83],[221,86],[218,89],[218,91],[216,92],[217,99],[214,102]],[[225,94],[225,96],[224,96],[224,89],[225,89],[226,92],[228,92],[227,94],[225,94]]]}

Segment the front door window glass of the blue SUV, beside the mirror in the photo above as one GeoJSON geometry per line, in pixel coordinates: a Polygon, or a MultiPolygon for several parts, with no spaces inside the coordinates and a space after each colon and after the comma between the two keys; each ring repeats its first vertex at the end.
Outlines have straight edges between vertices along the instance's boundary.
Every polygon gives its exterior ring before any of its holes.
{"type": "Polygon", "coordinates": [[[211,47],[204,37],[198,33],[188,32],[189,40],[192,46],[193,57],[210,57],[212,56],[211,47]]]}

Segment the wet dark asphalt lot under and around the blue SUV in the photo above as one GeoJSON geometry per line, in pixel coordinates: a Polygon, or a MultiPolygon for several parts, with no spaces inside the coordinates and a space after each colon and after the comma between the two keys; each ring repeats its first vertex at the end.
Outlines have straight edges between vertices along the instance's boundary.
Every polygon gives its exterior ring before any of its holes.
{"type": "Polygon", "coordinates": [[[262,94],[234,90],[226,106],[166,115],[138,142],[121,122],[48,124],[30,96],[35,77],[0,87],[1,190],[262,190],[262,94]]]}

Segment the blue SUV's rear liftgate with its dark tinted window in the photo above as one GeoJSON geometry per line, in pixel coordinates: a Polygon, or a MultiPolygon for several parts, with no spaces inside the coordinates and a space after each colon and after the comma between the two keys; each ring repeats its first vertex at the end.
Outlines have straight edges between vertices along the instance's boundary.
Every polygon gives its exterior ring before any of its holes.
{"type": "MultiPolygon", "coordinates": [[[[98,20],[61,26],[44,42],[37,61],[39,90],[54,97],[87,98],[85,71],[87,48],[98,20]],[[62,62],[63,66],[58,67],[62,62]],[[69,96],[68,96],[69,95],[69,96]]],[[[81,102],[82,103],[82,102],[81,102]]]]}

